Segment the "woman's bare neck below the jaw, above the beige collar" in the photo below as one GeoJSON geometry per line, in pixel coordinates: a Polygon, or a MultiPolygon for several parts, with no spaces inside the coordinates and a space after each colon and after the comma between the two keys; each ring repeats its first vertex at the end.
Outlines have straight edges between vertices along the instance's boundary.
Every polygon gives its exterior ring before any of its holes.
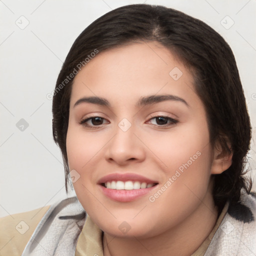
{"type": "Polygon", "coordinates": [[[104,232],[104,256],[191,255],[209,235],[217,220],[210,192],[181,223],[154,237],[117,237],[104,232]]]}

